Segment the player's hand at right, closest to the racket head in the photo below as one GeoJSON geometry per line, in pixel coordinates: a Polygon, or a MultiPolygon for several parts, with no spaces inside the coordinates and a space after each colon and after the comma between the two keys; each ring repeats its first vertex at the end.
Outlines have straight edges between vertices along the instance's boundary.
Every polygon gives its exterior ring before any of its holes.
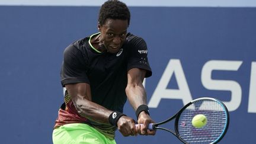
{"type": "Polygon", "coordinates": [[[155,135],[156,131],[155,130],[149,130],[148,129],[148,125],[149,123],[155,123],[151,117],[145,113],[145,111],[142,111],[140,114],[139,114],[139,117],[138,117],[138,125],[136,127],[136,131],[137,133],[139,133],[140,135],[155,135]],[[140,125],[140,124],[143,124],[143,125],[140,125]]]}

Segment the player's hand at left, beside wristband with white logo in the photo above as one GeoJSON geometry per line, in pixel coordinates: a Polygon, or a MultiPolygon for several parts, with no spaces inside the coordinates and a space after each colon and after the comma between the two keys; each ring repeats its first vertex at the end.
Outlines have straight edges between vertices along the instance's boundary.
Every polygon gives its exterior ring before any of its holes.
{"type": "Polygon", "coordinates": [[[127,116],[121,116],[117,121],[119,132],[123,136],[136,136],[137,131],[135,127],[135,120],[127,116]]]}

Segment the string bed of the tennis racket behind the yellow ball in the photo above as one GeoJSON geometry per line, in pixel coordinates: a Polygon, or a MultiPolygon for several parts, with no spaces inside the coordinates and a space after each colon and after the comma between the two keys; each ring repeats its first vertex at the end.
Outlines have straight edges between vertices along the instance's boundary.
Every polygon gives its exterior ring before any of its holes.
{"type": "Polygon", "coordinates": [[[178,133],[188,143],[212,143],[222,135],[226,127],[225,108],[217,101],[199,100],[185,108],[178,120],[178,133]],[[191,121],[197,114],[207,117],[205,126],[196,128],[191,121]]]}

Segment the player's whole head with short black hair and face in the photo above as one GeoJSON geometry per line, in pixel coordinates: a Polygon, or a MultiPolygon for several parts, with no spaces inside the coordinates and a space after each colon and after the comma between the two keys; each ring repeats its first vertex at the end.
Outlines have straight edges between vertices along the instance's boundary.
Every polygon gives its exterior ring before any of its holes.
{"type": "Polygon", "coordinates": [[[126,4],[116,0],[105,2],[100,9],[98,30],[100,42],[110,53],[116,53],[126,40],[130,12],[126,4]]]}

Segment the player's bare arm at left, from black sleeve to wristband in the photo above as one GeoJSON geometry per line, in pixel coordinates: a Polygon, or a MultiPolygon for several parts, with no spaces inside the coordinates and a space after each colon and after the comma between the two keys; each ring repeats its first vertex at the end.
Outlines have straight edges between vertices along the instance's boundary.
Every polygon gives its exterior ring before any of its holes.
{"type": "Polygon", "coordinates": [[[89,84],[68,84],[65,87],[81,116],[98,123],[108,123],[108,116],[110,116],[112,111],[91,101],[91,88],[89,84]]]}

